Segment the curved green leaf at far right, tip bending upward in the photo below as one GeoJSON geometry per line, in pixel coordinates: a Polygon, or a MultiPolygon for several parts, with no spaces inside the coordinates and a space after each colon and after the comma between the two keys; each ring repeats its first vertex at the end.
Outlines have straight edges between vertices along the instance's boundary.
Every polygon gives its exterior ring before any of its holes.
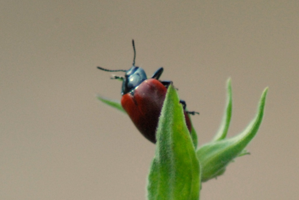
{"type": "Polygon", "coordinates": [[[267,91],[268,88],[261,96],[257,115],[242,133],[230,139],[213,141],[197,150],[202,181],[208,181],[221,175],[234,158],[246,153],[245,147],[254,138],[262,122],[267,91]]]}

